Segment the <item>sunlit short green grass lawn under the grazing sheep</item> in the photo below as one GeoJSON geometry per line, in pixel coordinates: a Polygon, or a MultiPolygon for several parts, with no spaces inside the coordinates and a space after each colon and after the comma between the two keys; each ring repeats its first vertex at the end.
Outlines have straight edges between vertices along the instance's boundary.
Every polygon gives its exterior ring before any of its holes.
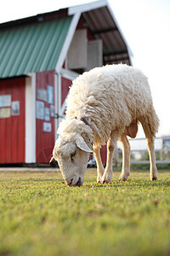
{"type": "Polygon", "coordinates": [[[0,256],[170,255],[170,172],[119,175],[69,188],[59,172],[0,172],[0,256]]]}

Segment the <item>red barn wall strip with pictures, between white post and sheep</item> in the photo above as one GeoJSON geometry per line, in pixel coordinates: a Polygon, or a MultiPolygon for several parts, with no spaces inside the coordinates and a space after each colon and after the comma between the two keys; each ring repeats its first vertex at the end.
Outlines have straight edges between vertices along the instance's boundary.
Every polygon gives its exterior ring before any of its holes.
{"type": "Polygon", "coordinates": [[[36,156],[48,163],[54,148],[54,71],[37,73],[36,78],[36,156]]]}

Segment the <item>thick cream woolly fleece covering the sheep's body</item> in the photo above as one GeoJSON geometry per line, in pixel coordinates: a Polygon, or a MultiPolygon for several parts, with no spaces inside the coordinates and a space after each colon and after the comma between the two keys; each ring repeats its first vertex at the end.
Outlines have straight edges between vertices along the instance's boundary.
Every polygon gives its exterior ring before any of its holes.
{"type": "MultiPolygon", "coordinates": [[[[94,136],[95,147],[105,144],[111,131],[123,133],[136,119],[149,123],[150,137],[156,136],[159,124],[147,78],[139,69],[122,64],[96,67],[73,81],[66,100],[66,119],[58,133],[80,130],[81,118],[88,120],[88,136],[94,136]]],[[[83,124],[82,130],[87,130],[86,126],[83,124]]]]}

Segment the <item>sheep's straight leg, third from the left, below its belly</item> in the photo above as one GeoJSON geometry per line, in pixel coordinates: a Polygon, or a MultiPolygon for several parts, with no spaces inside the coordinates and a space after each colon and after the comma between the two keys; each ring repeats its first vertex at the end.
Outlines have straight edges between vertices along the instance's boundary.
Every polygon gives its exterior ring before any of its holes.
{"type": "Polygon", "coordinates": [[[130,174],[130,145],[128,143],[126,135],[123,133],[121,137],[122,143],[122,173],[119,177],[119,181],[127,180],[130,174]]]}

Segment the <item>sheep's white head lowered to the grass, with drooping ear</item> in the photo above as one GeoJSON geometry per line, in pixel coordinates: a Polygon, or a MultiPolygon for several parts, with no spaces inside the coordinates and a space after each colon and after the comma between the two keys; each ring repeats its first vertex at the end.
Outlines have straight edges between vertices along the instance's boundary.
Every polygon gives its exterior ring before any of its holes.
{"type": "Polygon", "coordinates": [[[69,132],[62,134],[57,139],[51,161],[56,160],[58,162],[67,185],[82,186],[89,154],[92,152],[89,138],[83,137],[77,132],[69,132]]]}

